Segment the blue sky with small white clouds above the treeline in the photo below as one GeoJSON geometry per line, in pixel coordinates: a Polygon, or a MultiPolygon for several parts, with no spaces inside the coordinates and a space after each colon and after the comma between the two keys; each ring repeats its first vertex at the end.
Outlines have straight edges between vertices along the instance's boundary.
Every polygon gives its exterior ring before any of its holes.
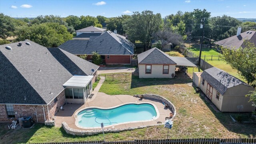
{"type": "Polygon", "coordinates": [[[114,17],[152,10],[162,17],[178,10],[206,9],[211,16],[256,18],[256,0],[0,0],[0,12],[12,17],[90,15],[114,17]]]}

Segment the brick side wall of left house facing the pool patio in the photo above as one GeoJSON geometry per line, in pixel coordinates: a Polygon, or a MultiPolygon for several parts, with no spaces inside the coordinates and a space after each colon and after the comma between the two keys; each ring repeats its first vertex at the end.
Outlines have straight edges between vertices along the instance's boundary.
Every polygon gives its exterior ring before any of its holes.
{"type": "Polygon", "coordinates": [[[50,118],[48,118],[48,114],[47,114],[47,118],[46,118],[47,120],[54,118],[54,115],[56,114],[56,112],[58,112],[58,108],[60,110],[60,107],[65,104],[65,91],[63,90],[62,92],[60,92],[57,98],[58,98],[57,102],[54,102],[54,100],[52,100],[52,102],[50,102],[50,104],[48,105],[50,118]]]}

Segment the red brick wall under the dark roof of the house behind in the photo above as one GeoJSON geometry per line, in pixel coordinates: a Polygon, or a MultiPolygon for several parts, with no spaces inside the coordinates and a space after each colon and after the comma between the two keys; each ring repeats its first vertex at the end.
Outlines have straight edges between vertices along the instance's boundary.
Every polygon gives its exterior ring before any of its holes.
{"type": "Polygon", "coordinates": [[[127,55],[110,55],[108,59],[107,56],[105,56],[106,64],[130,64],[131,57],[132,56],[127,55]]]}

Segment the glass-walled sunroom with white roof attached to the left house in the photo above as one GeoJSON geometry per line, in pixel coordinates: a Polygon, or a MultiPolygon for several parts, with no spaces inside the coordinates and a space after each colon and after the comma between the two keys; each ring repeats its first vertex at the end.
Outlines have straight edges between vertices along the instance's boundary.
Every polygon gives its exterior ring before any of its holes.
{"type": "Polygon", "coordinates": [[[85,103],[92,93],[93,76],[72,76],[65,84],[66,103],[85,103]]]}

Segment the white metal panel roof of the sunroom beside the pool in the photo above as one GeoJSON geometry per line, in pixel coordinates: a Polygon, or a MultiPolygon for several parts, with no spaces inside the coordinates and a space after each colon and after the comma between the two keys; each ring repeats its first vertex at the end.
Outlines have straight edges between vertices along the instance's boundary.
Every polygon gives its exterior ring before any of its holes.
{"type": "Polygon", "coordinates": [[[63,86],[84,88],[92,80],[93,76],[72,76],[63,86]]]}

